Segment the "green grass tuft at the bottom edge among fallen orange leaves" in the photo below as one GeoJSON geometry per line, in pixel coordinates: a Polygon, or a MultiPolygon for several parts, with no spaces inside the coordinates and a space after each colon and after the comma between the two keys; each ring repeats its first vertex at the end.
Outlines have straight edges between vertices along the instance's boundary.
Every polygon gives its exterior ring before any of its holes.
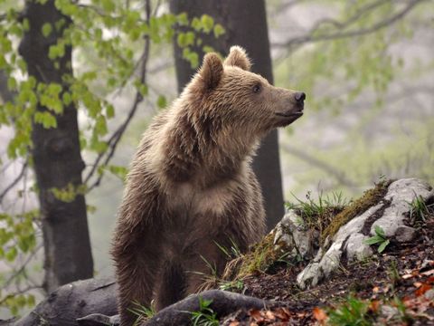
{"type": "Polygon", "coordinates": [[[335,326],[368,326],[373,324],[369,302],[350,297],[344,304],[328,312],[328,324],[335,326]]]}

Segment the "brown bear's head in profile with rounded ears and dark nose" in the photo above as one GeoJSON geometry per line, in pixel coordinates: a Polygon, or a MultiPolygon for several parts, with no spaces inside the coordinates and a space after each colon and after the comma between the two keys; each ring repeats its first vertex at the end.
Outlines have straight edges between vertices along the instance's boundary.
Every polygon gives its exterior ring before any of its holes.
{"type": "Polygon", "coordinates": [[[303,115],[305,93],[275,87],[250,72],[250,66],[240,46],[232,46],[224,62],[216,53],[207,53],[199,72],[184,90],[192,104],[193,121],[214,128],[231,126],[262,136],[303,115]]]}

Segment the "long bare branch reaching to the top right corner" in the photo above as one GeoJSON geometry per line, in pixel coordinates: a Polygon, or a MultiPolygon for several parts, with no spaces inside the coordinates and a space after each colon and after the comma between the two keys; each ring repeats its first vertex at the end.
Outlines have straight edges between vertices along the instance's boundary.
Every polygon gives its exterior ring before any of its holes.
{"type": "MultiPolygon", "coordinates": [[[[394,14],[390,16],[388,19],[385,19],[381,22],[378,22],[376,24],[373,24],[370,27],[365,27],[353,31],[347,31],[347,32],[335,32],[330,34],[318,34],[314,35],[314,32],[316,32],[316,29],[318,28],[318,24],[314,26],[313,29],[311,29],[307,35],[298,36],[293,39],[290,39],[284,43],[274,43],[273,46],[278,48],[291,48],[294,45],[297,44],[303,44],[303,43],[315,43],[319,41],[330,41],[330,40],[336,40],[336,39],[343,39],[348,37],[356,37],[356,36],[363,36],[366,34],[372,34],[376,31],[381,30],[384,27],[390,26],[392,24],[395,24],[399,20],[401,20],[406,14],[409,14],[410,11],[416,6],[419,5],[421,2],[427,1],[427,0],[412,0],[408,5],[406,5],[401,11],[399,11],[397,14],[394,14]]],[[[365,12],[367,9],[373,9],[373,7],[380,5],[378,3],[374,3],[370,5],[370,8],[364,8],[363,12],[365,12]]],[[[348,21],[345,21],[344,23],[338,23],[335,22],[334,24],[336,26],[342,26],[342,28],[348,26],[349,24],[353,24],[355,20],[360,18],[361,14],[354,14],[352,18],[350,18],[348,21]]],[[[326,21],[323,21],[323,23],[326,21]]],[[[330,21],[328,21],[330,22],[330,21]]]]}

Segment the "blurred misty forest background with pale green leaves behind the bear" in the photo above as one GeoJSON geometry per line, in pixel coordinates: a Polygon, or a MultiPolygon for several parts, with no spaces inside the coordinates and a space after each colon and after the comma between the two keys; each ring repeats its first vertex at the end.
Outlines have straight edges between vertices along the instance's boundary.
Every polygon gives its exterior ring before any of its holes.
{"type": "MultiPolygon", "coordinates": [[[[221,13],[174,14],[174,2],[0,2],[0,318],[72,280],[50,260],[68,245],[56,249],[51,236],[78,248],[73,277],[112,274],[127,165],[182,87],[174,43],[195,69],[197,49],[230,33],[221,13]],[[38,157],[53,135],[66,174],[38,157]],[[81,180],[67,179],[74,174],[81,180]],[[56,214],[80,212],[82,223],[44,226],[41,201],[56,214]]],[[[285,200],[349,200],[383,177],[432,185],[434,3],[270,0],[266,9],[274,83],[307,93],[304,117],[278,131],[285,200]]]]}

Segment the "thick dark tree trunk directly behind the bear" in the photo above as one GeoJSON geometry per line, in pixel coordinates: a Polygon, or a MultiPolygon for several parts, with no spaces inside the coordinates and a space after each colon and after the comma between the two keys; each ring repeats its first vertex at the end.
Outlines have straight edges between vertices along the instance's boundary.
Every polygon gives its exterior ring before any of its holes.
{"type": "MultiPolygon", "coordinates": [[[[229,53],[231,45],[241,45],[253,62],[252,72],[259,73],[273,83],[267,16],[263,0],[171,0],[174,14],[186,12],[190,18],[209,14],[222,24],[226,33],[215,39],[213,34],[201,34],[203,44],[211,45],[217,52],[229,53]]],[[[202,47],[193,49],[203,57],[202,47]]],[[[195,72],[190,62],[183,59],[183,51],[175,42],[175,65],[178,91],[190,81],[195,72]]],[[[258,155],[253,161],[264,196],[267,226],[273,228],[284,214],[282,181],[278,156],[278,132],[275,130],[262,140],[258,155]]]]}

